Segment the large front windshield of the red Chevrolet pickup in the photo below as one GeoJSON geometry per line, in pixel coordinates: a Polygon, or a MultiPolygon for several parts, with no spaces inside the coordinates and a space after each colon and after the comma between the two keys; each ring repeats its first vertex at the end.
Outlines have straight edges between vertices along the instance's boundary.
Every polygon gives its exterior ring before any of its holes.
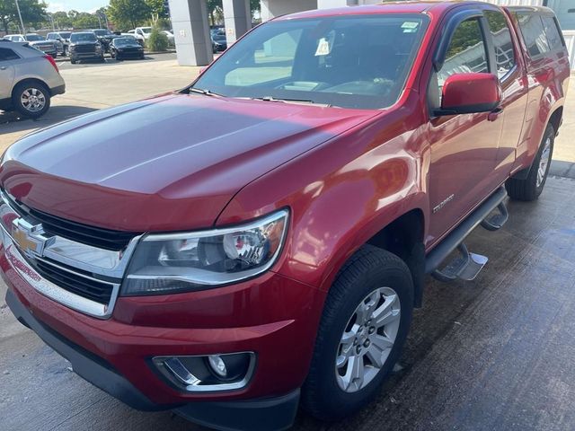
{"type": "Polygon", "coordinates": [[[269,22],[234,44],[193,88],[227,97],[385,108],[403,90],[427,22],[423,14],[407,13],[269,22]]]}

